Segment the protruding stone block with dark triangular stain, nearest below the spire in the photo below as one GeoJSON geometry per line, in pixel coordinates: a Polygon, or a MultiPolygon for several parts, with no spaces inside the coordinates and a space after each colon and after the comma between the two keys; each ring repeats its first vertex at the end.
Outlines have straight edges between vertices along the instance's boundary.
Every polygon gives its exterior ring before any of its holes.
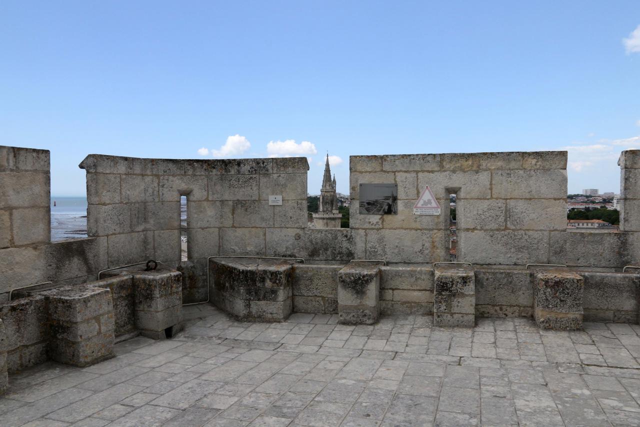
{"type": "Polygon", "coordinates": [[[340,323],[372,324],[380,315],[380,265],[348,264],[338,272],[340,323]]]}

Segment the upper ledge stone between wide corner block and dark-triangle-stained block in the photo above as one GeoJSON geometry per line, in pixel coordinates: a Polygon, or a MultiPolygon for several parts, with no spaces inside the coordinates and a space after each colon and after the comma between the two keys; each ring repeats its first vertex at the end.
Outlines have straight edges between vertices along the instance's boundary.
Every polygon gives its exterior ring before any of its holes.
{"type": "Polygon", "coordinates": [[[342,265],[296,264],[292,276],[294,296],[336,297],[342,265]]]}

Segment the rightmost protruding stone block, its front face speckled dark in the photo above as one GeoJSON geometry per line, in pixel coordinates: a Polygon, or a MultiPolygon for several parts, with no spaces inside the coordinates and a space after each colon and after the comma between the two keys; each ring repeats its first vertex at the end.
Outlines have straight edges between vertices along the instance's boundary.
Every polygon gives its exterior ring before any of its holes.
{"type": "Polygon", "coordinates": [[[540,271],[534,276],[534,319],[540,328],[582,328],[584,280],[575,272],[540,271]]]}

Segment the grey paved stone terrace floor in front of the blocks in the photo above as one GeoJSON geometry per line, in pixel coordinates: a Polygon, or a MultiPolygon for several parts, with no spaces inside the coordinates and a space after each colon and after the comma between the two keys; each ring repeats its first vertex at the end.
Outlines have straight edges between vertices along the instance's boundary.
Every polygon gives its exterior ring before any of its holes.
{"type": "Polygon", "coordinates": [[[540,331],[531,319],[335,315],[237,322],[185,308],[172,340],[138,337],[84,369],[10,377],[9,426],[638,426],[640,326],[540,331]]]}

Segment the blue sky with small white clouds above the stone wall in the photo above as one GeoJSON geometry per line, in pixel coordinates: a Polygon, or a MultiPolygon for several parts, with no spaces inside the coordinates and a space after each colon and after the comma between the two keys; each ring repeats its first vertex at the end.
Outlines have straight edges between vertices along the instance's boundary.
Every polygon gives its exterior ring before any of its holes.
{"type": "Polygon", "coordinates": [[[640,148],[637,0],[4,0],[0,52],[0,144],[51,149],[54,196],[89,153],[300,153],[316,194],[327,150],[346,193],[349,155],[565,147],[618,192],[640,148]]]}

